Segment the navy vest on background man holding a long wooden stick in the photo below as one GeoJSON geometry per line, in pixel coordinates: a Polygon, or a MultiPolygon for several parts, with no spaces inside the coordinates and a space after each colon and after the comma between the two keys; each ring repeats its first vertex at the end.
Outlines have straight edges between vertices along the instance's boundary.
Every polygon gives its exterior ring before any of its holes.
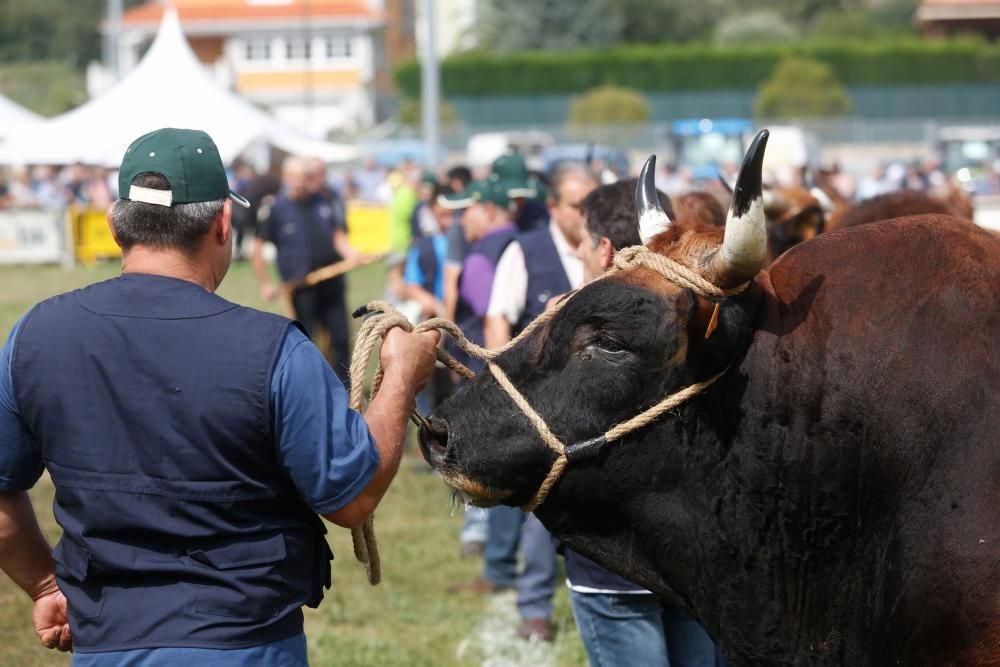
{"type": "Polygon", "coordinates": [[[284,194],[275,200],[271,207],[269,240],[278,249],[278,272],[282,280],[299,280],[313,269],[341,259],[333,248],[337,213],[335,202],[319,195],[305,204],[294,202],[284,194]]]}

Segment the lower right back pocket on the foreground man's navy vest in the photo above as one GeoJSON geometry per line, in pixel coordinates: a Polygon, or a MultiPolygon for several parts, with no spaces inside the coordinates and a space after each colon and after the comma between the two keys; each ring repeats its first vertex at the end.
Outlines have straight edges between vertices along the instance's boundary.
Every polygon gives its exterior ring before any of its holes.
{"type": "Polygon", "coordinates": [[[282,534],[240,541],[215,549],[189,551],[188,557],[214,571],[213,586],[198,585],[195,611],[210,616],[264,619],[287,605],[282,562],[286,558],[282,534]]]}

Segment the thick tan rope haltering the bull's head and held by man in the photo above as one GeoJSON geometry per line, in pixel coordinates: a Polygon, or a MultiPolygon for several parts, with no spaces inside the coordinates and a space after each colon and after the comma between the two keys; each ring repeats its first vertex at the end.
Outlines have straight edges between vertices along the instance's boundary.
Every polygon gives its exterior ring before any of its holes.
{"type": "MultiPolygon", "coordinates": [[[[721,289],[703,278],[697,271],[694,271],[693,269],[690,269],[668,257],[652,252],[644,246],[625,248],[618,252],[615,256],[614,266],[612,266],[604,275],[597,278],[597,280],[603,280],[622,271],[639,266],[645,266],[652,269],[679,287],[690,289],[696,294],[704,297],[722,298],[738,294],[744,289],[744,286],[739,286],[733,289],[721,289]]],[[[532,322],[525,327],[521,333],[515,336],[506,345],[492,350],[487,350],[486,348],[476,345],[470,341],[465,337],[465,334],[462,333],[462,330],[459,329],[458,325],[454,322],[436,317],[413,326],[410,324],[409,320],[402,315],[402,313],[390,304],[385,301],[372,301],[365,307],[365,312],[368,317],[366,317],[362,322],[361,329],[358,331],[357,340],[354,345],[354,354],[351,358],[351,407],[359,412],[364,409],[364,380],[365,374],[368,370],[368,362],[369,359],[371,359],[372,352],[375,351],[375,346],[379,344],[383,338],[385,338],[390,329],[399,327],[404,331],[414,333],[438,330],[449,334],[455,341],[455,344],[458,345],[463,352],[471,357],[482,359],[487,362],[490,373],[492,373],[494,379],[496,379],[500,387],[503,388],[521,412],[524,413],[525,417],[528,418],[528,421],[538,432],[539,437],[543,442],[545,442],[546,446],[556,453],[556,460],[553,462],[551,469],[542,481],[538,491],[535,493],[535,497],[522,507],[524,511],[532,512],[545,501],[549,491],[551,491],[552,487],[555,486],[556,482],[559,481],[559,478],[562,476],[563,470],[566,468],[568,463],[568,459],[566,458],[566,447],[562,441],[559,440],[559,438],[556,437],[551,430],[549,430],[545,420],[542,419],[541,415],[539,415],[534,408],[531,407],[527,399],[524,398],[521,392],[518,391],[517,387],[515,387],[510,381],[510,378],[507,377],[507,374],[504,373],[503,369],[494,363],[494,360],[510,348],[517,345],[523,338],[530,336],[536,329],[544,326],[546,322],[551,320],[556,315],[556,313],[562,310],[566,303],[570,301],[570,298],[571,297],[562,299],[553,308],[546,310],[537,318],[532,320],[532,322]]],[[[437,350],[437,358],[438,361],[465,379],[471,380],[475,377],[475,373],[440,347],[437,350]]],[[[723,373],[724,372],[725,371],[723,371],[723,373]]],[[[650,424],[664,412],[676,408],[684,401],[703,391],[715,382],[721,375],[722,373],[719,373],[708,380],[693,384],[675,394],[671,394],[635,417],[613,426],[604,434],[604,438],[608,442],[618,440],[626,434],[650,424]]],[[[382,385],[382,377],[382,368],[379,366],[379,368],[375,371],[374,377],[372,378],[372,398],[378,394],[378,390],[382,385]]],[[[375,539],[373,516],[369,516],[365,519],[364,524],[360,528],[352,529],[351,537],[354,542],[355,558],[365,565],[365,570],[368,574],[368,581],[373,586],[377,585],[382,578],[382,567],[378,550],[378,542],[375,539]]]]}

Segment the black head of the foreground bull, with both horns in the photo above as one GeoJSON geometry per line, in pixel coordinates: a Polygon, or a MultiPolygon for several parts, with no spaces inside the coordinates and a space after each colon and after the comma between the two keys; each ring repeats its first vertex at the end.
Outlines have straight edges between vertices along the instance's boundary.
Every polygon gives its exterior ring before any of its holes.
{"type": "MultiPolygon", "coordinates": [[[[604,433],[738,361],[757,302],[752,281],[767,254],[761,193],[766,142],[762,131],[747,151],[724,230],[667,216],[653,184],[653,158],[636,192],[646,247],[738,294],[706,298],[649,268],[628,269],[580,289],[553,319],[496,360],[563,443],[604,433]]],[[[604,494],[621,498],[635,485],[669,486],[685,465],[670,450],[684,438],[681,421],[667,415],[609,443],[593,459],[571,462],[542,510],[565,502],[580,509],[581,502],[602,503],[604,494]]],[[[489,372],[442,404],[420,440],[445,481],[484,506],[528,503],[556,457],[489,372]]]]}

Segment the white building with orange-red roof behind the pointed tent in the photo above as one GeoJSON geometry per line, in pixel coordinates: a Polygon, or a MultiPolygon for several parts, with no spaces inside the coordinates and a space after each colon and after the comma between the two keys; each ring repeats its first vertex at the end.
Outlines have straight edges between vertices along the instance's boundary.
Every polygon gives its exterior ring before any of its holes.
{"type": "MultiPolygon", "coordinates": [[[[217,78],[315,137],[374,122],[385,24],[379,0],[172,0],[198,58],[217,78]]],[[[163,2],[122,16],[120,75],[159,26],[163,2]]]]}

